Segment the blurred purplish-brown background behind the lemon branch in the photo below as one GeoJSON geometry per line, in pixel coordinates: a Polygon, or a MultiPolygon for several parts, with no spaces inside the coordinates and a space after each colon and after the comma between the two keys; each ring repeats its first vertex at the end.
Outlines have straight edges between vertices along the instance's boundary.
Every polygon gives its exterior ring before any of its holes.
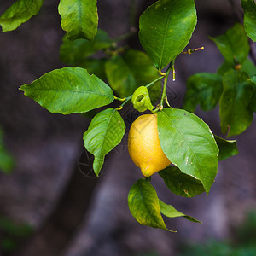
{"type": "MultiPolygon", "coordinates": [[[[1,1],[0,15],[14,2],[1,1]]],[[[137,4],[137,17],[154,3],[131,2],[137,4]]],[[[131,2],[99,1],[99,27],[111,38],[130,31],[131,2]]],[[[182,108],[190,75],[215,73],[223,61],[208,37],[224,33],[242,16],[238,0],[195,3],[198,23],[188,48],[205,49],[177,58],[177,80],[168,85],[169,102],[175,108],[182,108]]],[[[167,227],[177,233],[137,224],[127,195],[142,174],[128,155],[127,131],[108,154],[103,175],[86,177],[83,172],[90,170],[92,159],[85,154],[82,138],[90,118],[49,113],[19,90],[20,85],[65,67],[59,57],[65,32],[57,6],[58,1],[44,0],[37,16],[13,32],[0,34],[0,127],[5,148],[15,161],[12,172],[0,172],[0,255],[255,255],[255,118],[247,131],[232,137],[238,140],[240,154],[219,163],[208,196],[183,198],[166,189],[158,175],[152,178],[163,201],[202,224],[165,218],[167,227]]],[[[142,49],[137,35],[125,45],[142,49]]],[[[121,113],[128,127],[137,117],[129,106],[121,113]]],[[[224,137],[218,107],[210,112],[198,108],[196,114],[224,137]]]]}

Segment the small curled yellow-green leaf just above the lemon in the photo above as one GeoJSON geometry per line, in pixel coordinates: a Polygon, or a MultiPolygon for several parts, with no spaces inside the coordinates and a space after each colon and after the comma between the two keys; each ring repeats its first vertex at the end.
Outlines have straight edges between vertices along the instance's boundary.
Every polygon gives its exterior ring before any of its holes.
{"type": "Polygon", "coordinates": [[[137,109],[139,112],[153,110],[154,108],[149,98],[148,89],[145,86],[140,86],[135,90],[131,97],[131,102],[133,104],[133,108],[137,109]]]}

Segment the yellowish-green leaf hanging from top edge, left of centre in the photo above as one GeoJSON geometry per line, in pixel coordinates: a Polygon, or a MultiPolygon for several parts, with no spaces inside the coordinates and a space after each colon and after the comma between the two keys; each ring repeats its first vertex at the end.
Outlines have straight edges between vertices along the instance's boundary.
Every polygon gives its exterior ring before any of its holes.
{"type": "Polygon", "coordinates": [[[61,0],[58,9],[69,40],[93,40],[98,26],[96,0],[61,0]]]}

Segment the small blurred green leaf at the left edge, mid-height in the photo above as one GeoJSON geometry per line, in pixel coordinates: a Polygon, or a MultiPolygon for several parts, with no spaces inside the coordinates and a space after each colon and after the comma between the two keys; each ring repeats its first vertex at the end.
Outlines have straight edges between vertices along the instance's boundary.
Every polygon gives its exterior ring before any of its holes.
{"type": "Polygon", "coordinates": [[[14,159],[3,145],[3,131],[0,128],[0,172],[10,173],[15,166],[14,159]]]}

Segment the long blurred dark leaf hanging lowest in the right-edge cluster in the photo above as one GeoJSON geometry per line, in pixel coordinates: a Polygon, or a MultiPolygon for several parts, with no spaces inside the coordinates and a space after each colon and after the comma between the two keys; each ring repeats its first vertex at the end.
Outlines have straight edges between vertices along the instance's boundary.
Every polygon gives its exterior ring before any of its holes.
{"type": "Polygon", "coordinates": [[[253,111],[248,108],[254,86],[246,73],[230,70],[223,77],[224,91],[219,102],[221,131],[233,136],[245,131],[253,121],[253,111]]]}

